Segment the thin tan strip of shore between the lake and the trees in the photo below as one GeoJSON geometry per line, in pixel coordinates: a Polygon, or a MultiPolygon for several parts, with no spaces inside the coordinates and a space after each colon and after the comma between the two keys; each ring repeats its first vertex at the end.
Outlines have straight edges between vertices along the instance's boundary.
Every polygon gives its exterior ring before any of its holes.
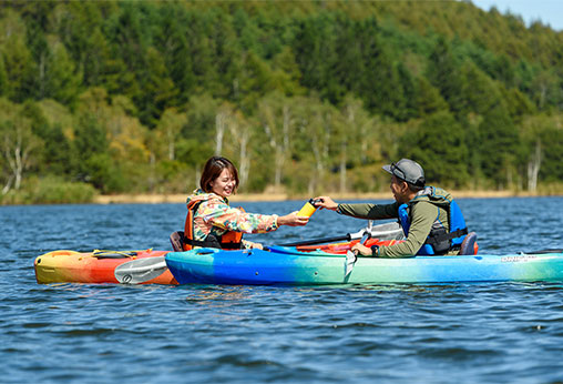
{"type": "MultiPolygon", "coordinates": [[[[501,199],[501,198],[538,198],[561,194],[540,194],[514,191],[449,191],[454,199],[501,199]]],[[[98,195],[94,204],[161,204],[185,203],[187,193],[182,194],[111,194],[98,195]]],[[[391,192],[368,193],[328,193],[335,200],[392,200],[391,192]]],[[[307,201],[313,196],[288,195],[286,193],[239,193],[229,198],[231,202],[279,202],[307,201]]]]}

